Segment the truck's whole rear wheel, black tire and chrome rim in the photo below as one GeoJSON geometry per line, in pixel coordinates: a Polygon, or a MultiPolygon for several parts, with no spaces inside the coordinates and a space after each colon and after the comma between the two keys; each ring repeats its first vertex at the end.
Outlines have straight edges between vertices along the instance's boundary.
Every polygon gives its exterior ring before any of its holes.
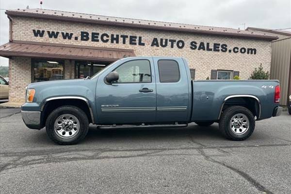
{"type": "Polygon", "coordinates": [[[224,110],[219,121],[219,129],[227,139],[242,141],[251,136],[255,129],[255,117],[242,106],[231,106],[224,110]]]}

